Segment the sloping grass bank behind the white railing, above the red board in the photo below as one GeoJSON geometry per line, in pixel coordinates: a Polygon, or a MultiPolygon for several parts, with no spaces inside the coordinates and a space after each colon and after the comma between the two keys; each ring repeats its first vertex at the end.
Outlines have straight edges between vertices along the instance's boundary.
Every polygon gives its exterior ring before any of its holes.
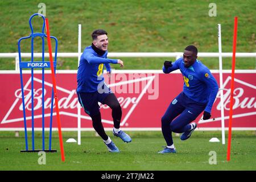
{"type": "MultiPolygon", "coordinates": [[[[234,16],[238,16],[237,52],[255,52],[254,0],[215,0],[217,16],[213,17],[209,16],[212,1],[205,0],[43,2],[51,35],[59,40],[58,52],[77,52],[78,24],[82,24],[82,49],[92,43],[92,31],[102,28],[109,33],[109,52],[183,52],[189,44],[197,46],[199,52],[218,52],[218,23],[221,24],[222,52],[232,52],[234,16]]],[[[30,34],[28,19],[38,13],[39,3],[0,1],[1,53],[18,52],[18,39],[30,34]]],[[[35,31],[40,31],[40,19],[35,18],[33,26],[35,31]]],[[[36,38],[34,51],[41,52],[41,46],[40,39],[36,38]]],[[[30,52],[30,41],[24,40],[22,52],[30,52]]],[[[161,69],[164,60],[175,60],[175,57],[118,58],[124,61],[123,69],[161,69]]],[[[199,57],[199,60],[209,69],[218,69],[218,57],[199,57]]],[[[236,69],[255,69],[255,57],[236,61],[236,69]]],[[[231,57],[223,58],[223,69],[231,69],[231,63],[231,57]]],[[[120,69],[119,65],[112,66],[120,69]]],[[[15,69],[15,59],[0,58],[0,69],[15,69]]],[[[57,69],[76,70],[76,57],[58,57],[57,69]]]]}

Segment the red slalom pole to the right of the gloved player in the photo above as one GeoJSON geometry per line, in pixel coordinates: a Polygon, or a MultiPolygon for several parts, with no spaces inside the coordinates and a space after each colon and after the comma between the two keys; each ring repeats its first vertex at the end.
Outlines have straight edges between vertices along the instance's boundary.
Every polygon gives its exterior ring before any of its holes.
{"type": "Polygon", "coordinates": [[[231,91],[230,91],[230,109],[229,109],[229,138],[226,160],[230,160],[231,134],[232,134],[232,115],[234,99],[234,70],[236,67],[236,46],[237,46],[237,16],[234,18],[234,37],[233,37],[233,57],[232,57],[232,74],[231,74],[231,91]]]}

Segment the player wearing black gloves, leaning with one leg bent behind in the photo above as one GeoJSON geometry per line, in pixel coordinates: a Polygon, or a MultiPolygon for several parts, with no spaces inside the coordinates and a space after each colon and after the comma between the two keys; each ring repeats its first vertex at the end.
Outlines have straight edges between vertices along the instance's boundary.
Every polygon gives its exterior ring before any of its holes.
{"type": "Polygon", "coordinates": [[[209,69],[197,60],[197,48],[188,46],[183,57],[174,63],[164,61],[163,72],[180,69],[184,86],[183,92],[172,100],[162,117],[162,133],[167,146],[160,154],[175,153],[172,132],[183,133],[181,140],[187,140],[196,129],[194,121],[204,111],[203,119],[211,117],[213,102],[217,96],[218,84],[209,69]],[[192,123],[191,123],[192,122],[192,123]]]}

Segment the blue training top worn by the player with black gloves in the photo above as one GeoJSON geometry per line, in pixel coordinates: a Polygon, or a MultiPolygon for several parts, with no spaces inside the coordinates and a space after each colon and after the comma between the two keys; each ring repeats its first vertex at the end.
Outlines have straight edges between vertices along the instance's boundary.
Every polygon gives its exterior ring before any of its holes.
{"type": "Polygon", "coordinates": [[[163,66],[164,73],[170,73],[176,69],[180,69],[183,75],[184,94],[193,101],[205,104],[208,103],[207,107],[205,107],[205,111],[210,113],[218,93],[217,81],[212,73],[210,73],[210,70],[199,60],[196,60],[193,65],[186,68],[182,57],[172,63],[172,67],[168,69],[163,66]]]}

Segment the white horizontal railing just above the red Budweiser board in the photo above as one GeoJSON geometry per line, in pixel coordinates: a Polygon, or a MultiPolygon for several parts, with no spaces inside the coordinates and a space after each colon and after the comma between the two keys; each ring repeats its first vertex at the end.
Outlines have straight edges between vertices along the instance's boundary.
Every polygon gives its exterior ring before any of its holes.
{"type": "MultiPolygon", "coordinates": [[[[54,52],[52,53],[54,56],[54,52]]],[[[31,57],[31,53],[21,53],[22,57],[31,57]]],[[[79,57],[78,52],[60,52],[58,57],[79,57]]],[[[109,52],[108,57],[179,57],[183,56],[183,52],[109,52]]],[[[199,57],[219,57],[218,52],[199,52],[199,57]]],[[[222,52],[222,57],[232,57],[232,52],[222,52]]],[[[19,70],[19,54],[16,53],[0,53],[0,58],[15,58],[15,70],[19,70]]],[[[42,53],[34,53],[34,57],[42,57],[42,53]]],[[[44,57],[49,57],[49,53],[45,52],[44,57]]],[[[255,57],[256,52],[237,52],[236,57],[255,57]]]]}

